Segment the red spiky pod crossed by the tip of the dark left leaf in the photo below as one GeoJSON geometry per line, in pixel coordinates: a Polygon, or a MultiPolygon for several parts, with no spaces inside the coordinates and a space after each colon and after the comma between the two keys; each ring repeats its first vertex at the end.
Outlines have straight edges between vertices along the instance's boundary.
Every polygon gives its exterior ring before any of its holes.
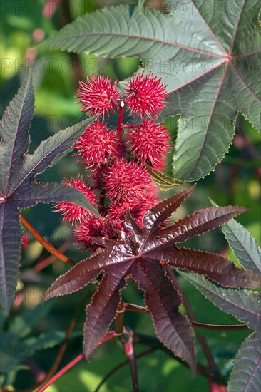
{"type": "MultiPolygon", "coordinates": [[[[96,205],[96,195],[88,185],[86,185],[83,177],[80,175],[78,175],[78,177],[71,177],[70,180],[63,180],[63,183],[68,185],[68,187],[73,187],[81,191],[92,205],[96,205]]],[[[75,225],[76,223],[81,224],[92,215],[86,208],[72,202],[60,202],[55,205],[55,209],[55,212],[61,212],[63,215],[62,222],[66,221],[71,223],[71,225],[75,225]]]]}

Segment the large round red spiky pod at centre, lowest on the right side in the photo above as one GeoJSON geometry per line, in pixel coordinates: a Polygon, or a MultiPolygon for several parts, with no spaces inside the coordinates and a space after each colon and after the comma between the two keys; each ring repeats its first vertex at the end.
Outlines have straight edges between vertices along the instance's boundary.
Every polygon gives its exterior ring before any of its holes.
{"type": "Polygon", "coordinates": [[[145,167],[120,158],[104,170],[103,189],[113,202],[138,202],[153,190],[153,181],[145,167]]]}

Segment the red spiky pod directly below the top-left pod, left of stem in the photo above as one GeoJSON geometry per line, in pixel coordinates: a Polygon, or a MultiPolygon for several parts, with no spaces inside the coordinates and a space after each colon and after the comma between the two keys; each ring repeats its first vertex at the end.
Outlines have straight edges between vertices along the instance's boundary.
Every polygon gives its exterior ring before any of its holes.
{"type": "Polygon", "coordinates": [[[94,121],[77,140],[73,148],[77,151],[87,167],[96,168],[106,163],[114,153],[116,135],[114,130],[108,130],[100,121],[94,121]]]}

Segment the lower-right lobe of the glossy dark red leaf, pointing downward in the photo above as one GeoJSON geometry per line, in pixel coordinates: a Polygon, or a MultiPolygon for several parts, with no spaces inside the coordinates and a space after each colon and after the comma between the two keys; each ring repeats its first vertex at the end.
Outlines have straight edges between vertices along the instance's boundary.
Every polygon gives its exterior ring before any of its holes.
{"type": "Polygon", "coordinates": [[[195,335],[188,319],[180,314],[180,296],[165,270],[156,262],[139,259],[134,278],[145,291],[145,303],[153,316],[158,339],[195,370],[195,335]]]}

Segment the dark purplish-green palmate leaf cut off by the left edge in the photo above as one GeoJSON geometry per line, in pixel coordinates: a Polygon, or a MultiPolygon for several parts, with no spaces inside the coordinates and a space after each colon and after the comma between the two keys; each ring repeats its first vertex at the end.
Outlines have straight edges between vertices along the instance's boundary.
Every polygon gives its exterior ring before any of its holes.
{"type": "Polygon", "coordinates": [[[39,202],[75,202],[98,214],[78,190],[63,184],[37,183],[35,177],[68,151],[96,117],[60,130],[44,140],[34,154],[29,149],[29,127],[34,114],[31,72],[11,100],[0,124],[0,300],[9,311],[19,267],[21,227],[19,209],[39,202]]]}

